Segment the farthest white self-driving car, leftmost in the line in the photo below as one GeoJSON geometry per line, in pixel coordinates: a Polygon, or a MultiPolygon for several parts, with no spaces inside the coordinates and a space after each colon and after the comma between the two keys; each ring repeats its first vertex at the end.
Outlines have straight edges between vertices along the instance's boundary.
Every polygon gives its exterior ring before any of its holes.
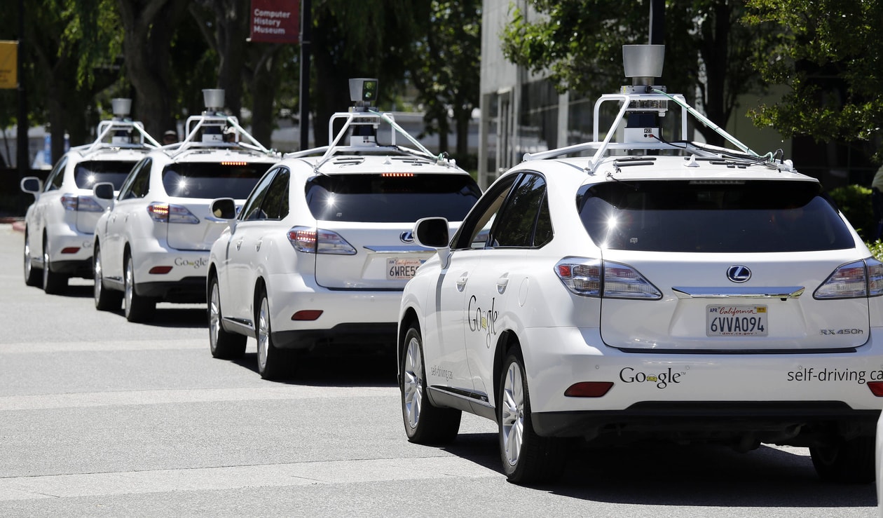
{"type": "Polygon", "coordinates": [[[130,99],[113,99],[114,117],[98,124],[93,143],[73,147],[55,164],[42,185],[22,178],[34,194],[25,214],[25,282],[60,293],[70,277],[92,278],[95,222],[109,206],[92,189],[106,182],[119,189],[132,166],[160,146],[140,122],[128,117],[130,99]],[[41,275],[42,274],[42,275],[41,275]]]}

